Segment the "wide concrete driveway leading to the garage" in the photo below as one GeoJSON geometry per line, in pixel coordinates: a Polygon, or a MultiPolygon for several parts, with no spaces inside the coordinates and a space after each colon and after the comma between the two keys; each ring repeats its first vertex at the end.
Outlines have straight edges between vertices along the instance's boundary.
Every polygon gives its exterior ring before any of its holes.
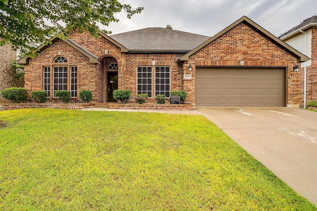
{"type": "Polygon", "coordinates": [[[317,112],[292,107],[197,110],[317,206],[317,112]]]}

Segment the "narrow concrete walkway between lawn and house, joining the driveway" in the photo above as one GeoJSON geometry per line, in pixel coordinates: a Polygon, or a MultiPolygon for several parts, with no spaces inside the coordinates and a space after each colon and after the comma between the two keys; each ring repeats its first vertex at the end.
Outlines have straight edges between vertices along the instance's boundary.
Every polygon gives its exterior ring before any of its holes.
{"type": "Polygon", "coordinates": [[[147,112],[147,113],[168,113],[168,114],[189,114],[202,115],[197,110],[151,110],[151,109],[109,109],[106,107],[88,107],[81,110],[96,110],[96,111],[126,111],[126,112],[147,112]]]}

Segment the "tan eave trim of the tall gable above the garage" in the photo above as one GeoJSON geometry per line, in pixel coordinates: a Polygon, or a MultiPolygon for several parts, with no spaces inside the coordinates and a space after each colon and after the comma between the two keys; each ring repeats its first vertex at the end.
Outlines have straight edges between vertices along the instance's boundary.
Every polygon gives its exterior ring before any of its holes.
{"type": "Polygon", "coordinates": [[[291,53],[292,55],[297,57],[298,61],[308,61],[309,60],[309,57],[307,57],[306,55],[298,52],[294,48],[290,47],[289,45],[287,45],[286,43],[284,43],[283,41],[281,41],[280,39],[278,39],[277,37],[275,37],[274,35],[272,35],[268,31],[266,31],[260,25],[258,25],[257,23],[253,22],[248,17],[243,16],[239,20],[235,21],[234,23],[232,23],[231,25],[229,25],[228,27],[226,27],[225,29],[223,29],[222,31],[220,31],[219,33],[217,33],[216,35],[211,37],[209,40],[207,40],[206,42],[204,42],[203,44],[198,46],[197,48],[195,48],[192,51],[190,51],[189,53],[186,53],[185,55],[183,55],[181,58],[178,59],[178,61],[187,61],[189,56],[191,56],[192,54],[194,54],[194,53],[198,52],[199,50],[203,49],[208,44],[210,44],[211,42],[213,42],[214,40],[216,40],[217,38],[219,38],[223,34],[227,33],[228,31],[230,31],[232,28],[234,28],[235,26],[237,26],[240,23],[246,23],[252,29],[257,31],[259,34],[261,34],[266,39],[268,39],[272,43],[274,43],[276,46],[280,47],[281,49],[285,50],[286,52],[291,53]]]}

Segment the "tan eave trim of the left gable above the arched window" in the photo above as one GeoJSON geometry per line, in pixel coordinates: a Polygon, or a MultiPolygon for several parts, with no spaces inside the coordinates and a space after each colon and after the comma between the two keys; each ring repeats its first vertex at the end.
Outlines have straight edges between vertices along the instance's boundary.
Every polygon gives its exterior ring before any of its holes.
{"type": "MultiPolygon", "coordinates": [[[[55,41],[57,41],[58,37],[53,37],[50,41],[51,43],[54,43],[55,41]]],[[[77,51],[79,51],[80,53],[83,53],[84,55],[86,55],[89,58],[89,62],[90,63],[100,63],[98,61],[98,57],[92,53],[90,53],[89,51],[87,51],[86,49],[84,49],[83,47],[81,47],[80,45],[78,45],[77,43],[75,43],[73,40],[71,39],[60,39],[62,41],[64,41],[65,43],[67,43],[68,45],[70,45],[71,47],[73,47],[74,49],[76,49],[77,51]]],[[[46,48],[48,48],[50,46],[50,44],[42,44],[41,46],[38,47],[38,51],[37,53],[45,50],[46,48]]],[[[19,64],[27,64],[29,62],[29,60],[31,59],[30,56],[26,55],[23,56],[22,58],[20,58],[17,62],[19,64]]]]}

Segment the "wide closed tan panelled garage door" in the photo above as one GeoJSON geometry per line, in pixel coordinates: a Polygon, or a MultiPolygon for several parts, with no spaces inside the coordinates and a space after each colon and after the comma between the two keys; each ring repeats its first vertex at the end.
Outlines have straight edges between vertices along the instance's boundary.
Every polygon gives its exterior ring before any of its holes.
{"type": "Polygon", "coordinates": [[[196,104],[285,106],[285,69],[197,67],[196,104]]]}

